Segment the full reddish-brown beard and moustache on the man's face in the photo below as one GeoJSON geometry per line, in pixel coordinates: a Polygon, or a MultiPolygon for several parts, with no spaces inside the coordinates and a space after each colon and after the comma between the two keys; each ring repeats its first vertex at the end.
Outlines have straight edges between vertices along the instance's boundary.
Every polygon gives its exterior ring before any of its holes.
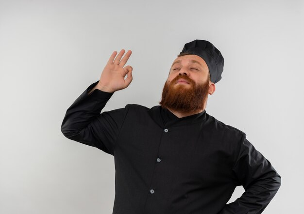
{"type": "Polygon", "coordinates": [[[181,113],[189,113],[204,109],[209,90],[209,81],[197,85],[188,76],[178,75],[170,83],[166,81],[162,99],[159,104],[181,113]],[[180,78],[187,80],[190,87],[183,84],[175,85],[180,78]]]}

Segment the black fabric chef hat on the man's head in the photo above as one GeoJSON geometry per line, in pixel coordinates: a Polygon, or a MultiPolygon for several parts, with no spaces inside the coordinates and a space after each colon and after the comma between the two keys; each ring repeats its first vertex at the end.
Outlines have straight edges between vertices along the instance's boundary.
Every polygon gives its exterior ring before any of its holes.
{"type": "Polygon", "coordinates": [[[209,68],[210,81],[213,83],[220,81],[224,68],[224,58],[210,42],[196,39],[186,43],[181,53],[195,54],[203,58],[209,68]]]}

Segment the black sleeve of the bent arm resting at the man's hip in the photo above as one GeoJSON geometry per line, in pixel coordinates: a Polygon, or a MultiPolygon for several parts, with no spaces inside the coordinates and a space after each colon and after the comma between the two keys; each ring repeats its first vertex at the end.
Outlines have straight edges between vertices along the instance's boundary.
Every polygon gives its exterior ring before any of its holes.
{"type": "Polygon", "coordinates": [[[281,176],[255,150],[246,139],[246,134],[241,141],[233,171],[238,185],[242,185],[245,192],[236,201],[227,204],[220,214],[261,214],[281,185],[281,176]]]}

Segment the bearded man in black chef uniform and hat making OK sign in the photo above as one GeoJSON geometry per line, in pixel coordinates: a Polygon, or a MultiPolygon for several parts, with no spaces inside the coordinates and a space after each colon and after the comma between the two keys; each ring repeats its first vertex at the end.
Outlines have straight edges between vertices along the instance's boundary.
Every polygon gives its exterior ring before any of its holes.
{"type": "MultiPolygon", "coordinates": [[[[113,214],[260,214],[281,177],[241,130],[206,113],[224,59],[208,41],[186,43],[173,61],[160,106],[102,108],[132,81],[114,51],[101,73],[68,108],[65,137],[114,156],[113,214]],[[127,78],[125,78],[127,76],[127,78]],[[227,204],[236,186],[245,192],[227,204]]],[[[122,59],[121,59],[122,58],[122,59]]]]}

